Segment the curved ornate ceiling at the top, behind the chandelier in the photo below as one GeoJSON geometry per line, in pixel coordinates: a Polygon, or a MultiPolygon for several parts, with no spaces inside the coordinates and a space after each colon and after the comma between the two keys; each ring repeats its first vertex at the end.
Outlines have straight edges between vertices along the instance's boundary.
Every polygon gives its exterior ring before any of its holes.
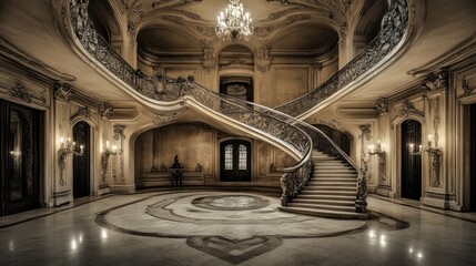
{"type": "MultiPolygon", "coordinates": [[[[383,0],[381,0],[383,1],[383,0]]],[[[229,0],[121,0],[129,29],[140,49],[152,53],[195,53],[216,43],[216,16],[229,0]]],[[[253,19],[251,43],[270,51],[305,51],[320,55],[335,51],[346,28],[350,0],[242,0],[253,19]]]]}

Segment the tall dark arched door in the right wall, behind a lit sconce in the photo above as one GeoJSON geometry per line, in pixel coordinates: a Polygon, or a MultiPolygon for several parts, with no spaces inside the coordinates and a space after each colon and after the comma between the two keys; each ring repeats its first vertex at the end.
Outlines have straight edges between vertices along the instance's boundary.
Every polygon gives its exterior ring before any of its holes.
{"type": "MultiPolygon", "coordinates": [[[[407,120],[402,124],[402,197],[422,197],[422,155],[412,155],[409,144],[422,144],[422,124],[407,120]]],[[[417,149],[416,149],[417,150],[417,149]]]]}

